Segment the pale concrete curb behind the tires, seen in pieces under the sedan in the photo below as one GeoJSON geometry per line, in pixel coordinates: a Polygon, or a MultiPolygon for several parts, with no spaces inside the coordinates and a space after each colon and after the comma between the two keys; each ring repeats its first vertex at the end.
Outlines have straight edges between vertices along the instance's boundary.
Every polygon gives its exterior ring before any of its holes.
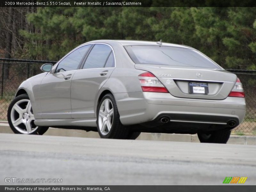
{"type": "MultiPolygon", "coordinates": [[[[9,124],[5,121],[0,121],[0,133],[13,133],[9,124]]],[[[84,130],[76,129],[57,129],[50,128],[44,135],[52,136],[67,136],[67,137],[87,137],[100,138],[98,132],[85,132],[84,130]]],[[[199,143],[196,134],[167,134],[167,133],[141,133],[137,140],[156,140],[156,141],[178,141],[199,143]]],[[[228,144],[239,145],[256,145],[256,136],[235,136],[231,135],[228,144]]]]}

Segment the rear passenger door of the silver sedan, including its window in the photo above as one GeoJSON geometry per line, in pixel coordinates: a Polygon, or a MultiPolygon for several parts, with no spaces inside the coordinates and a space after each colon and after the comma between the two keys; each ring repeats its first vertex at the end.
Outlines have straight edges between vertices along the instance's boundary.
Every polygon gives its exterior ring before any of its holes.
{"type": "Polygon", "coordinates": [[[94,104],[102,85],[115,68],[115,56],[107,44],[94,44],[72,79],[72,118],[94,118],[94,104]]]}

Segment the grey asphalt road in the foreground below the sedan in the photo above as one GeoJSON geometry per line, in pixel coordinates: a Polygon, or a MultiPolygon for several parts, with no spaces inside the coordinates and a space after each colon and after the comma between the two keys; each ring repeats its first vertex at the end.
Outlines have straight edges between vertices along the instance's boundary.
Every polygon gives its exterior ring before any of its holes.
{"type": "Polygon", "coordinates": [[[6,177],[62,185],[221,185],[248,177],[245,184],[255,185],[255,172],[253,145],[0,134],[0,185],[13,184],[6,177]]]}

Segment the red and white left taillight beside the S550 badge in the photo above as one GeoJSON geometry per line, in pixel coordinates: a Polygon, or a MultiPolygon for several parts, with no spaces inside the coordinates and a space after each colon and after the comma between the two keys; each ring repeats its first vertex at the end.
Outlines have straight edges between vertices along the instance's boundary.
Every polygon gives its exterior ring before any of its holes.
{"type": "Polygon", "coordinates": [[[138,76],[140,80],[140,86],[143,92],[162,92],[168,93],[168,90],[159,81],[156,76],[150,72],[142,73],[138,76]]]}

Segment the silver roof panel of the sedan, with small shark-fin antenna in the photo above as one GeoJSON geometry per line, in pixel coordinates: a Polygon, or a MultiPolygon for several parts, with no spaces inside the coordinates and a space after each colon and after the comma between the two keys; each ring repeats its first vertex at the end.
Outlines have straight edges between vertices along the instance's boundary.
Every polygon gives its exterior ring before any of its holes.
{"type": "Polygon", "coordinates": [[[180,44],[172,44],[172,43],[162,43],[157,44],[155,41],[135,41],[135,40],[95,40],[87,43],[111,43],[111,42],[118,42],[122,44],[123,46],[129,46],[129,45],[162,45],[162,46],[172,46],[172,47],[182,47],[182,48],[190,48],[194,49],[192,47],[186,46],[186,45],[180,45],[180,44]]]}

